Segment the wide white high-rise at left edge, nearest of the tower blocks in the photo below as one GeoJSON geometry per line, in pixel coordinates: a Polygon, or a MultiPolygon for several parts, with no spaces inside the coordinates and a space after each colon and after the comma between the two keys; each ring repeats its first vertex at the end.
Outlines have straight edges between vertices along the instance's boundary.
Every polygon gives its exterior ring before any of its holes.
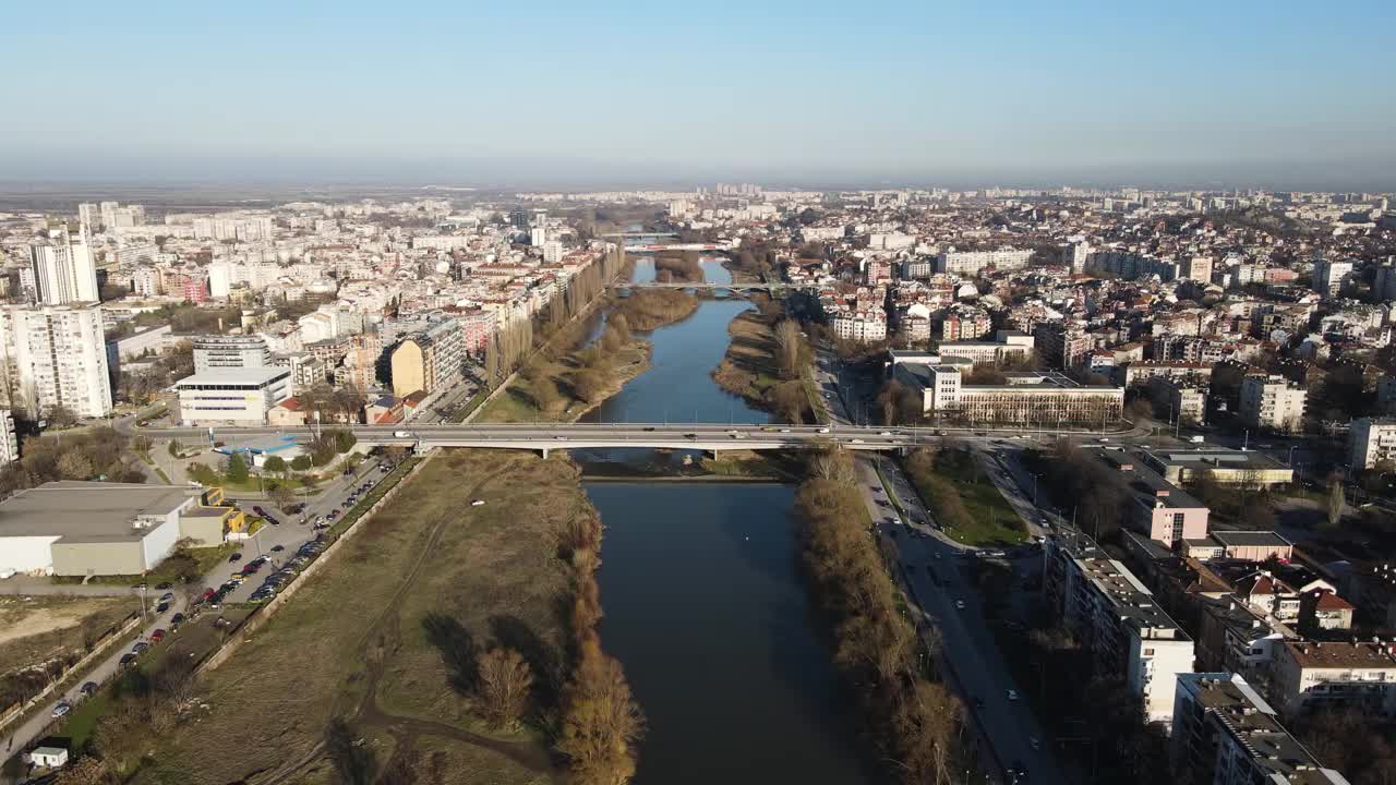
{"type": "Polygon", "coordinates": [[[82,418],[112,412],[101,306],[17,307],[4,316],[18,383],[11,406],[24,404],[39,415],[63,406],[82,418]]]}

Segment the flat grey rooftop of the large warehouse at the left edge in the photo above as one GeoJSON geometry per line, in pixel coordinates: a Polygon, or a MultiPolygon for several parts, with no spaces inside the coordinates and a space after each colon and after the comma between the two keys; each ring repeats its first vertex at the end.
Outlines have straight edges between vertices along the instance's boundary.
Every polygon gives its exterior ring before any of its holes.
{"type": "Polygon", "coordinates": [[[121,482],[46,482],[0,503],[0,538],[57,536],[64,542],[130,542],[148,529],[141,517],[163,517],[198,489],[121,482]]]}

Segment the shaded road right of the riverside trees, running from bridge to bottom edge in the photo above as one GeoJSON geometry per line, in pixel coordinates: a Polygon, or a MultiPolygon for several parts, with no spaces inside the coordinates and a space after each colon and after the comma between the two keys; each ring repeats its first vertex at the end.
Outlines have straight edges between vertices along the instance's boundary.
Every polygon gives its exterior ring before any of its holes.
{"type": "Polygon", "coordinates": [[[1048,736],[1033,715],[1023,690],[1013,683],[988,629],[979,589],[966,575],[969,559],[974,557],[973,549],[945,538],[933,525],[905,525],[877,475],[878,461],[896,504],[913,521],[931,518],[892,461],[881,457],[859,461],[860,485],[868,511],[878,521],[878,534],[896,543],[902,582],[924,619],[940,631],[935,644],[942,669],[952,675],[972,726],[979,731],[990,757],[984,761],[986,771],[1007,782],[1009,768],[1026,770],[1032,782],[1065,785],[1068,778],[1051,744],[1046,743],[1048,736]],[[1022,697],[1011,700],[1009,690],[1022,697]]]}

